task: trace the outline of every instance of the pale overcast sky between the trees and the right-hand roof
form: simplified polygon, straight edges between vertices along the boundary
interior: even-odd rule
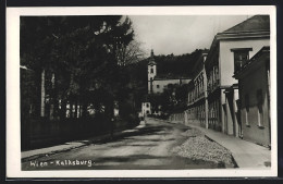
[[[210,48],[217,33],[247,20],[247,15],[131,15],[136,39],[155,54],[190,53]]]

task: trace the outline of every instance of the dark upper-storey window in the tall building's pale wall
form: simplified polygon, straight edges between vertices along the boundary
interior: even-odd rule
[[[237,73],[249,60],[249,51],[253,48],[231,49],[234,52],[234,73]]]

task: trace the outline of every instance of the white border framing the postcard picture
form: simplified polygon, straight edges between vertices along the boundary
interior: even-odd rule
[[[270,14],[271,23],[271,168],[213,170],[21,171],[20,16],[21,15],[246,15]],[[225,177],[276,176],[276,29],[275,7],[87,7],[7,9],[7,176],[8,177]]]

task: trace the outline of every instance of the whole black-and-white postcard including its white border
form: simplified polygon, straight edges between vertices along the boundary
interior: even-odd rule
[[[272,7],[8,9],[8,173],[275,176],[274,27]]]

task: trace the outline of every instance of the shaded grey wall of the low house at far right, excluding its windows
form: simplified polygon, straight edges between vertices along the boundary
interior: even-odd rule
[[[239,83],[241,90],[241,119],[243,123],[243,138],[261,144],[270,144],[270,125],[269,125],[269,110],[268,110],[268,81],[264,65],[257,69],[249,75],[245,76]],[[262,89],[262,112],[263,121],[262,127],[258,126],[258,106],[257,106],[257,90]],[[247,113],[248,125],[246,122],[245,94],[249,95],[249,111]]]

